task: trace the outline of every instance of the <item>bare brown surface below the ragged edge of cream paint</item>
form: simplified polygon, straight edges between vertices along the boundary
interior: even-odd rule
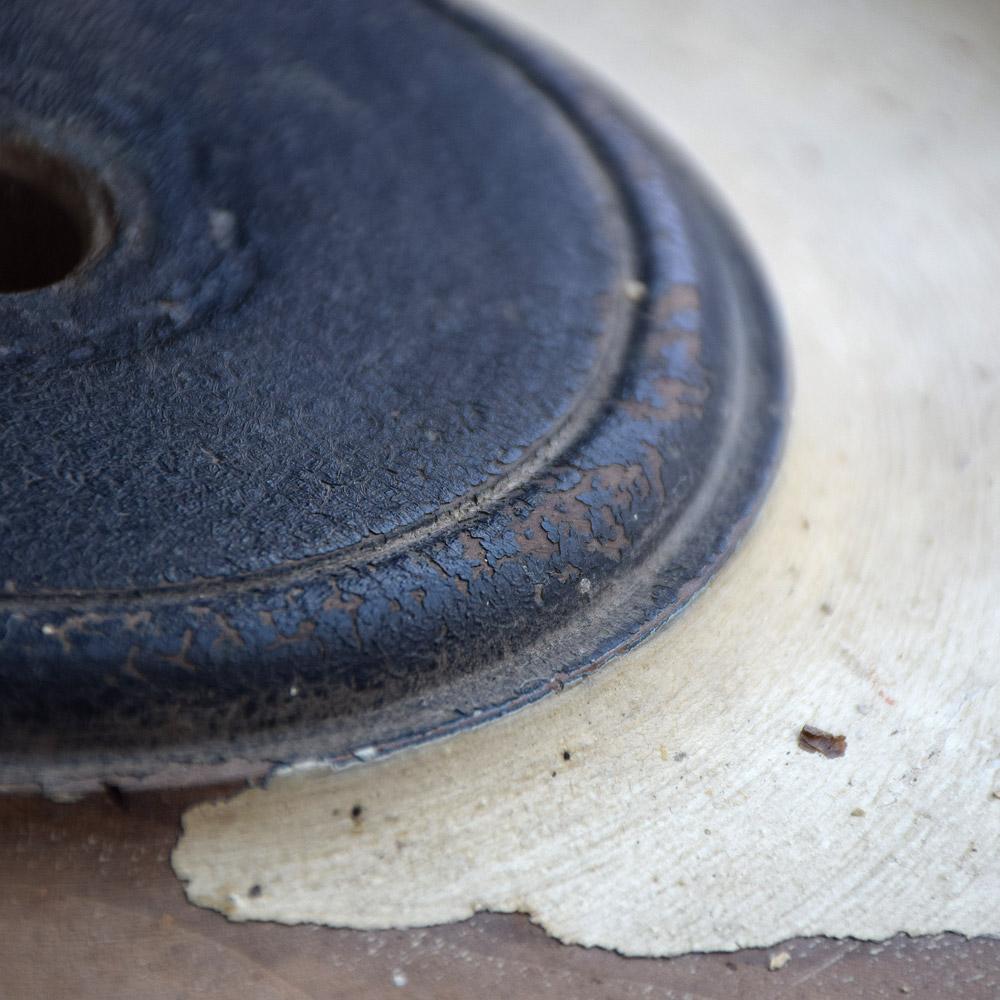
[[[1000,992],[1000,940],[955,935],[627,959],[562,945],[513,915],[378,932],[230,923],[188,904],[170,870],[180,814],[197,797],[0,800],[3,1000],[994,1000]],[[782,951],[788,963],[770,972]]]

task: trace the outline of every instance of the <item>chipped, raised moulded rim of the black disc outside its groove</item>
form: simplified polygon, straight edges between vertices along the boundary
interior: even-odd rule
[[[426,577],[433,564],[454,602],[453,591],[465,598],[480,580],[483,586],[493,581],[500,587],[503,574],[516,564],[531,585],[526,593],[514,593],[503,584],[503,593],[521,601],[525,621],[525,598],[539,612],[572,600],[572,613],[515,644],[518,634],[505,630],[509,619],[487,612],[480,620],[476,669],[471,660],[454,661],[448,635],[440,634],[440,617],[428,610],[423,623],[432,651],[428,671],[405,664],[394,671],[395,664],[386,663],[387,683],[366,675],[360,654],[373,641],[378,647],[388,606],[398,601],[389,597],[385,610],[369,614],[363,593],[367,570],[360,567],[348,567],[346,576],[341,572],[336,578],[324,576],[322,566],[311,567],[301,578],[278,580],[270,590],[266,581],[237,593],[206,587],[186,597],[166,594],[145,603],[138,597],[132,606],[102,608],[82,599],[65,606],[15,606],[7,614],[4,656],[15,648],[11,643],[18,635],[37,640],[56,634],[72,651],[76,638],[67,631],[72,620],[81,634],[110,636],[113,659],[136,641],[128,623],[144,627],[141,616],[153,608],[161,645],[171,645],[164,630],[172,630],[173,645],[182,652],[193,647],[199,629],[234,630],[252,661],[253,644],[263,649],[266,636],[259,626],[245,623],[258,621],[261,608],[280,606],[291,636],[300,634],[303,623],[311,623],[306,629],[311,634],[325,617],[350,637],[359,658],[324,661],[313,654],[310,659],[309,645],[296,650],[294,642],[284,647],[290,652],[282,659],[261,657],[260,674],[271,685],[275,677],[288,683],[283,671],[289,678],[301,676],[310,663],[313,679],[308,692],[296,691],[291,682],[289,695],[297,699],[292,714],[279,713],[257,731],[236,727],[227,733],[216,725],[199,731],[192,724],[185,732],[181,720],[174,741],[147,748],[143,733],[152,727],[133,709],[127,732],[112,730],[98,745],[84,741],[79,748],[50,753],[44,740],[26,750],[5,740],[0,788],[77,794],[102,784],[201,784],[259,776],[306,760],[368,760],[478,725],[561,689],[647,638],[704,586],[756,514],[780,452],[788,380],[775,313],[732,223],[674,152],[578,72],[512,40],[478,15],[428,2],[514,63],[584,134],[628,207],[640,248],[641,286],[635,289],[636,333],[627,371],[600,425],[557,459],[545,482],[500,509],[462,522],[445,537],[431,537],[393,556],[377,570],[390,581],[390,593],[402,594],[412,590],[415,572]],[[685,447],[695,449],[681,477],[686,481],[664,483],[663,454]],[[587,508],[583,520],[576,503]],[[600,517],[597,530],[593,514]],[[631,528],[633,519],[644,532],[641,539],[629,534],[638,530]],[[509,551],[512,535],[521,543],[516,553]],[[422,570],[414,570],[417,563]],[[609,563],[616,572],[604,582]],[[551,595],[546,586],[532,583],[550,578]],[[430,603],[429,596],[424,594],[421,607]],[[478,605],[469,605],[470,613],[490,605],[484,591]],[[17,627],[12,630],[13,616]],[[32,662],[33,648],[30,641],[24,644],[25,663]],[[331,662],[337,677],[324,687],[316,671],[324,664],[332,670]],[[190,683],[187,666],[181,663],[178,680]],[[246,677],[241,680],[247,683]],[[231,683],[220,675],[212,692],[218,706],[227,699],[232,707],[256,697],[252,691],[228,690]],[[350,707],[338,715],[336,707],[346,703],[338,694],[345,693],[350,693]],[[99,698],[99,692],[93,694],[94,704]]]

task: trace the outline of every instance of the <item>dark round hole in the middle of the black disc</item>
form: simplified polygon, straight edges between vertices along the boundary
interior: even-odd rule
[[[0,293],[62,281],[109,235],[107,197],[89,172],[35,146],[0,143]]]

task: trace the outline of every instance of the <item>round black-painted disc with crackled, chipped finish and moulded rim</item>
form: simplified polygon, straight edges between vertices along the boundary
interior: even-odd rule
[[[55,221],[0,248],[8,787],[516,708],[676,612],[772,472],[780,344],[731,227],[450,8],[14,0],[0,211],[28,188]]]

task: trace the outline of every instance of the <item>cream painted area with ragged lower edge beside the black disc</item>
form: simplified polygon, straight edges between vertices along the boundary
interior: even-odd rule
[[[522,910],[649,955],[1000,933],[1000,5],[494,6],[725,191],[792,345],[779,481],[716,582],[587,683],[191,810],[190,899]],[[846,755],[798,750],[806,722]]]

